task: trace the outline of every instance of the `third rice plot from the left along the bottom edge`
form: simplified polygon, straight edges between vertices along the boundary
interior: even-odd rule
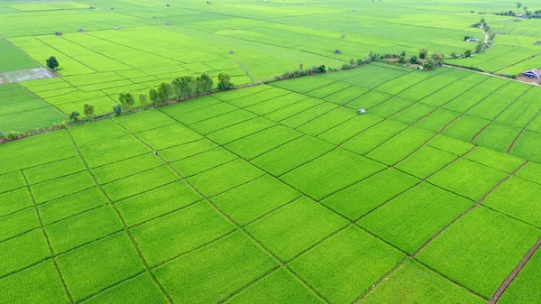
[[[248,236],[237,231],[156,269],[158,280],[179,303],[211,303],[278,267]]]

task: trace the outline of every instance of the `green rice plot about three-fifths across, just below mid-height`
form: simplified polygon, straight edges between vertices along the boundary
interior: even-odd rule
[[[289,171],[280,179],[319,200],[383,169],[380,163],[338,149]]]

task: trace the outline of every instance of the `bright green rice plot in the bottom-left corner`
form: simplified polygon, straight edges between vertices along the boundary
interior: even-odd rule
[[[0,279],[0,286],[2,303],[69,303],[60,276],[50,260]]]

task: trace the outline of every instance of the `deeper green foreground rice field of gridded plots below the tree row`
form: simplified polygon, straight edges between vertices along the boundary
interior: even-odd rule
[[[541,237],[537,90],[373,63],[0,145],[2,302],[487,302]]]

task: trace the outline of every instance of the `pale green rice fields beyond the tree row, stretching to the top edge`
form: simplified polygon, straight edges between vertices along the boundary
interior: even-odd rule
[[[541,9],[531,5],[530,10]],[[541,46],[534,45],[541,21],[517,23],[492,14],[511,9],[517,11],[503,0],[188,0],[170,6],[148,0],[0,0],[0,73],[44,66],[49,56],[60,62],[59,78],[15,83],[15,91],[2,94],[0,130],[59,124],[86,103],[96,114],[108,113],[119,91],[148,94],[161,81],[181,75],[207,72],[215,78],[224,70],[235,85],[243,85],[300,64],[340,68],[371,51],[462,53],[475,47],[464,36],[482,38],[479,28],[470,27],[481,17],[500,32],[495,47],[449,63],[514,75],[541,68]],[[19,91],[32,95],[32,106],[19,104]]]

